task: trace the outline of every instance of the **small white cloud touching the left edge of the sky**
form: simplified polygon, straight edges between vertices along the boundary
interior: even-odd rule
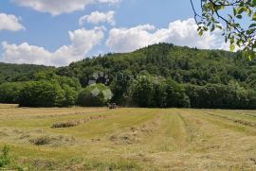
[[[20,24],[21,20],[20,17],[16,17],[15,15],[0,13],[0,31],[18,31],[25,29],[25,27]]]

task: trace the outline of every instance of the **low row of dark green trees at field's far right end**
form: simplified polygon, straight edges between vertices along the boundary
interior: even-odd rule
[[[256,94],[241,87],[236,82],[229,85],[207,84],[187,85],[186,93],[191,99],[192,108],[207,109],[255,109]]]

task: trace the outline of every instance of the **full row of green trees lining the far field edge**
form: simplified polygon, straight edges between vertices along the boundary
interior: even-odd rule
[[[101,107],[118,102],[143,108],[256,109],[256,92],[237,82],[198,86],[145,72],[140,76],[144,77],[126,83],[113,81],[109,87],[97,83],[82,88],[78,78],[40,72],[34,80],[1,84],[0,102],[21,107]],[[114,96],[106,98],[104,90],[111,90]]]

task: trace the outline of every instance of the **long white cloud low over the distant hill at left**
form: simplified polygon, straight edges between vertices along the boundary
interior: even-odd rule
[[[49,52],[44,47],[28,43],[9,44],[2,43],[4,62],[31,63],[63,66],[72,61],[82,60],[95,45],[101,43],[104,37],[103,29],[95,27],[91,30],[84,28],[69,31],[70,45],[64,45],[55,52]]]

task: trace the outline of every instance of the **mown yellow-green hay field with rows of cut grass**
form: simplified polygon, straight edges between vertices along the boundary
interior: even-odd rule
[[[0,105],[4,145],[7,170],[256,170],[256,111]]]

